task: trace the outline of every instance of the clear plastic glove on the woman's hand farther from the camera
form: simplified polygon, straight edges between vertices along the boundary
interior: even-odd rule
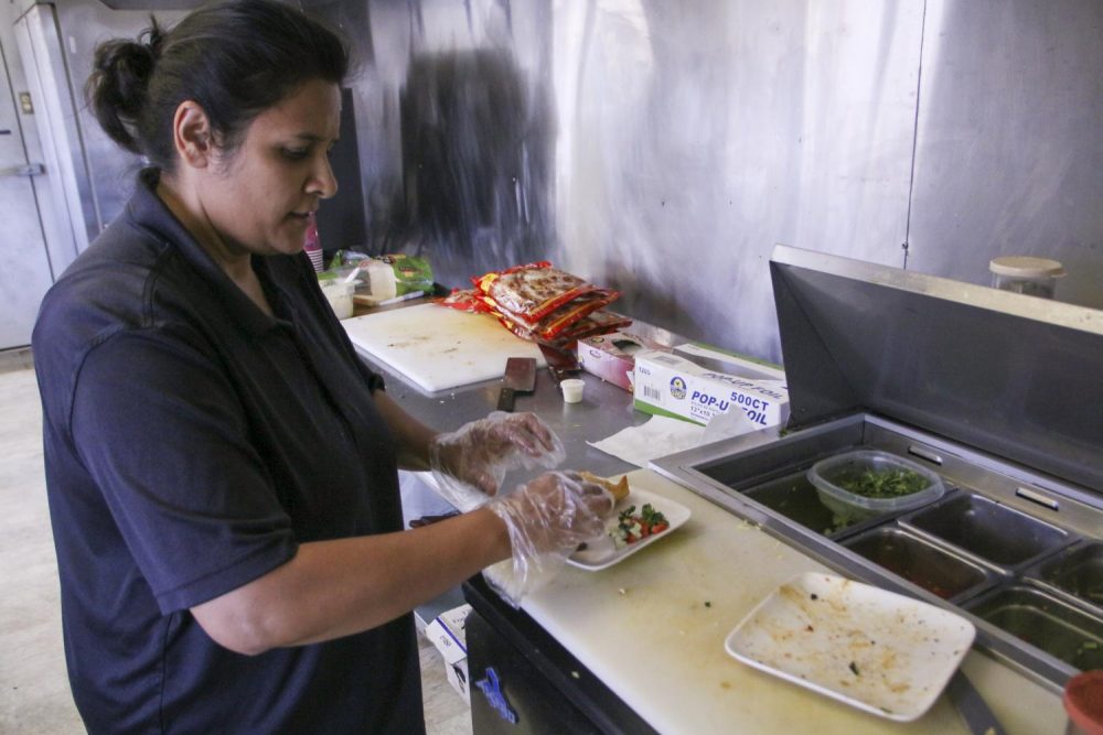
[[[494,411],[437,435],[429,444],[429,466],[438,493],[463,511],[495,495],[507,472],[520,467],[550,469],[566,457],[559,437],[535,413]]]

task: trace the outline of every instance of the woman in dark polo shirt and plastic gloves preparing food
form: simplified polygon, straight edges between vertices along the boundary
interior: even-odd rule
[[[92,732],[420,732],[415,605],[518,586],[611,497],[548,473],[401,531],[397,469],[496,490],[555,439],[450,434],[357,360],[301,252],[336,191],[343,44],[266,0],[100,46],[89,101],[151,167],[43,301],[33,350],[66,658]]]

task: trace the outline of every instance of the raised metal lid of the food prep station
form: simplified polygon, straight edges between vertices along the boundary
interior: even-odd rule
[[[786,246],[790,429],[856,411],[1103,494],[1103,312]]]

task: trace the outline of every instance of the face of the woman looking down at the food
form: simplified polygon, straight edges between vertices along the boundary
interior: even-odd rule
[[[329,152],[341,125],[341,90],[312,80],[258,115],[237,150],[215,162],[200,197],[226,255],[293,255],[309,215],[338,191]]]

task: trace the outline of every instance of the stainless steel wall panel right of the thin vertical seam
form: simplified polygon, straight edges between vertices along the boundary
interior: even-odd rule
[[[1103,307],[1103,2],[930,0],[909,267],[1042,255]]]

